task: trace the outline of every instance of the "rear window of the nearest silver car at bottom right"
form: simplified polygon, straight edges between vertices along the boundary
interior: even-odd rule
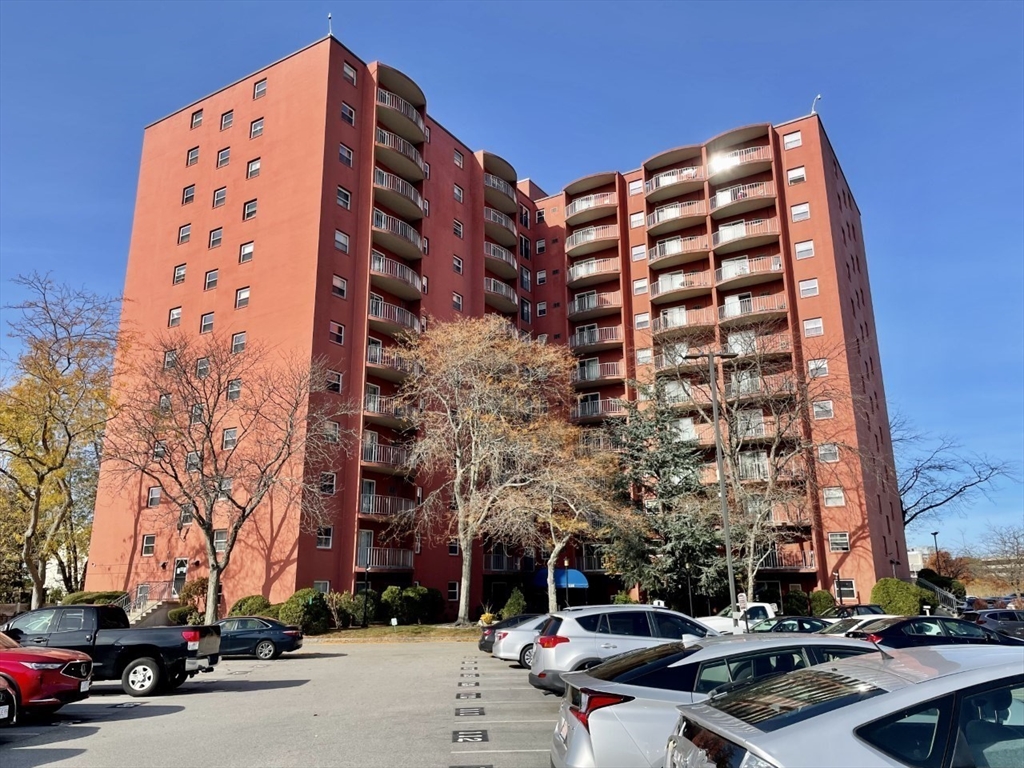
[[[799,676],[782,675],[755,682],[713,698],[708,705],[770,732],[882,693],[882,688],[862,680],[807,670]]]

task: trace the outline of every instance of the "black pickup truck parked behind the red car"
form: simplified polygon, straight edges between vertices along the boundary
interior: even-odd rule
[[[177,688],[220,656],[219,627],[139,627],[117,605],[58,605],[15,616],[3,627],[27,647],[69,648],[92,658],[93,680],[120,680],[125,693]]]

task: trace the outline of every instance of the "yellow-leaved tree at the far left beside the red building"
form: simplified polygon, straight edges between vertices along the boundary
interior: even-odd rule
[[[32,607],[45,599],[46,569],[71,517],[95,494],[92,446],[109,418],[119,301],[37,273],[12,281],[28,296],[8,336],[0,390],[0,494],[15,516]]]

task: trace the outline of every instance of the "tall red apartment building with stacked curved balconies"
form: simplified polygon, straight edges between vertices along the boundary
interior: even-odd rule
[[[335,524],[304,531],[294,509],[261,514],[240,538],[227,603],[419,583],[457,604],[458,547],[389,526],[429,490],[402,470],[393,396],[410,367],[395,338],[486,312],[579,355],[572,418],[586,425],[623,414],[629,380],[677,371],[665,360],[683,342],[771,345],[796,379],[830,377],[850,396],[801,414],[800,429],[814,440],[828,422],[819,458],[836,479],[806,483],[807,519],[761,579],[866,600],[878,578],[906,572],[859,214],[816,116],[550,196],[449,132],[407,75],[329,37],[145,129],[125,296],[136,329],[166,332],[175,309],[175,333],[208,317],[322,356],[339,396],[362,404],[343,425],[361,439],[338,460]],[[812,335],[834,342],[827,360],[805,359]],[[176,590],[203,574],[199,532],[158,525],[145,485],[126,494],[101,471],[88,589]],[[599,558],[570,557],[600,583]],[[480,543],[472,604],[531,583],[534,563]]]

